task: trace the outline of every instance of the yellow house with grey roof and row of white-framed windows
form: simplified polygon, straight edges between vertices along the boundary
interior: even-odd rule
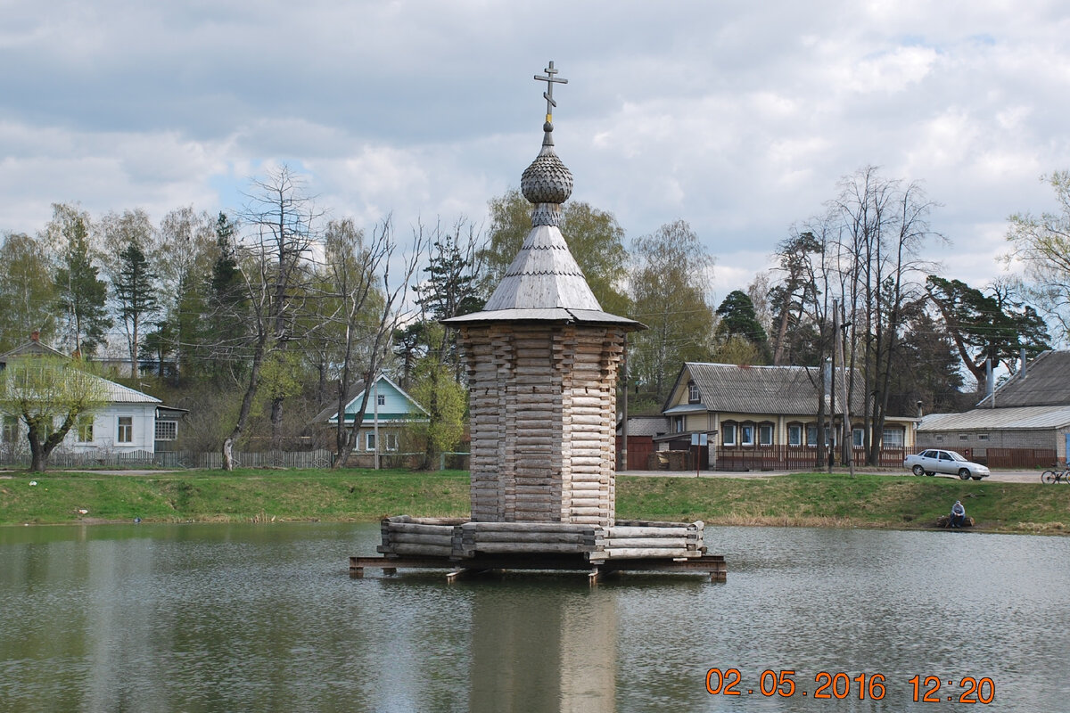
[[[681,369],[661,410],[668,419],[667,432],[654,436],[654,440],[664,450],[687,450],[694,448],[692,441],[698,439],[700,467],[720,470],[814,467],[821,437],[817,413],[824,412],[825,445],[836,446],[846,403],[845,379],[838,375],[836,389],[826,386],[822,394],[821,376],[819,367],[689,361]],[[829,376],[826,371],[825,384],[834,381]],[[855,391],[846,410],[853,458],[860,463],[866,460],[865,431],[859,418],[862,394],[858,389]],[[882,464],[902,464],[905,452],[914,448],[915,421],[908,417],[886,419]],[[701,445],[703,437],[705,447]],[[839,453],[835,455],[838,462]]]

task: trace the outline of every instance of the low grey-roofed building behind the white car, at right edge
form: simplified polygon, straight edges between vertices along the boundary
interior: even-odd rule
[[[1050,467],[1070,450],[1070,351],[1042,352],[977,406],[930,414],[919,448],[959,451],[990,467]]]

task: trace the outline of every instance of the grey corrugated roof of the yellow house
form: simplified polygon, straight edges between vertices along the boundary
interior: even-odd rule
[[[819,367],[751,367],[734,363],[688,361],[686,373],[699,387],[699,400],[706,410],[745,412],[754,414],[817,413]],[[679,378],[685,378],[685,371]],[[677,382],[678,383],[678,382]],[[861,412],[859,381],[852,410]],[[844,392],[837,379],[837,402],[843,403]]]

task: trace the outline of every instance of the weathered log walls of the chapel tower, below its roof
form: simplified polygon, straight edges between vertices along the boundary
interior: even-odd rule
[[[472,520],[612,524],[618,326],[467,325]]]

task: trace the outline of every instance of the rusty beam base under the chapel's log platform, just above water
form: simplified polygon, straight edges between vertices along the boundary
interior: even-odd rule
[[[600,562],[588,561],[581,554],[509,554],[476,555],[463,559],[434,555],[387,555],[384,557],[350,557],[349,576],[358,579],[365,568],[382,570],[384,574],[396,574],[400,569],[449,570],[446,582],[461,577],[505,570],[542,570],[582,572],[592,585],[602,577],[617,572],[672,572],[708,573],[710,582],[725,582],[728,565],[722,555],[703,555],[690,558],[635,558],[609,559]]]

